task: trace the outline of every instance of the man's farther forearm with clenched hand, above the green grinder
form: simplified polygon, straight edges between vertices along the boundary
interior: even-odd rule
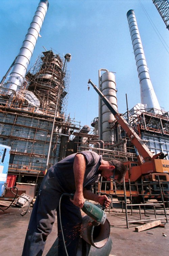
[[[96,201],[102,206],[104,205],[105,208],[108,208],[111,202],[106,195],[99,196],[97,194],[93,194],[91,190],[85,188],[83,189],[83,196],[88,200]]]

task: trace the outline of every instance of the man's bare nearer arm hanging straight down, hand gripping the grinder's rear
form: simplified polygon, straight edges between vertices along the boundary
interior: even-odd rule
[[[73,171],[75,178],[75,186],[76,192],[74,194],[74,199],[71,200],[72,203],[78,207],[83,207],[84,197],[83,197],[83,180],[84,173],[86,170],[86,160],[82,154],[76,154],[74,163],[73,163]]]

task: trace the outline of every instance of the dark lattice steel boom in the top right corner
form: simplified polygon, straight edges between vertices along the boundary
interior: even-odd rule
[[[169,0],[153,0],[152,2],[169,30]]]

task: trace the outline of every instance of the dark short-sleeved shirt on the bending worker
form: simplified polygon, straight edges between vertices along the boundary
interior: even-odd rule
[[[94,185],[100,177],[100,172],[98,169],[101,165],[101,155],[98,155],[93,151],[82,151],[71,154],[70,156],[59,161],[57,164],[53,165],[54,173],[59,184],[65,191],[71,191],[71,193],[76,190],[73,172],[73,163],[76,154],[82,154],[86,159],[86,171],[84,173],[83,188],[91,189],[92,185]]]

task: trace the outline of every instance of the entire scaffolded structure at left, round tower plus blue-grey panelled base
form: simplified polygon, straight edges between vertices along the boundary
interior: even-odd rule
[[[64,112],[70,74],[62,66],[58,54],[46,51],[28,71],[19,90],[7,94],[9,89],[1,86],[0,143],[11,147],[8,173],[44,176],[53,122],[48,167],[66,156],[69,138],[80,123]]]

